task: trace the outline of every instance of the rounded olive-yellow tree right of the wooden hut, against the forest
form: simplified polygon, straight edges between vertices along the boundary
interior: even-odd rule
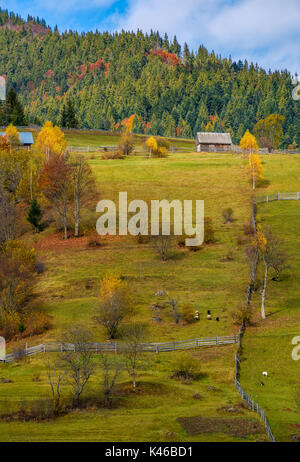
[[[284,116],[271,114],[266,119],[257,122],[253,131],[261,147],[268,148],[269,152],[279,147],[283,137],[284,121]]]

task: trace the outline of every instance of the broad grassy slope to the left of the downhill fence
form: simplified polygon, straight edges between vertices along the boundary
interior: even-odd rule
[[[97,305],[99,279],[108,269],[118,270],[134,287],[136,318],[149,323],[153,341],[236,331],[230,311],[244,301],[248,281],[243,248],[237,244],[242,225],[249,218],[251,192],[244,175],[245,162],[231,155],[176,154],[169,159],[130,158],[105,162],[95,156],[91,165],[97,176],[100,198],[115,199],[118,191],[127,191],[129,200],[204,199],[206,216],[213,219],[218,242],[198,253],[177,251],[176,258],[161,263],[151,247],[137,245],[134,238],[110,239],[99,250],[87,250],[84,240],[76,246],[74,240],[70,240],[66,248],[63,241],[44,233],[37,238],[36,245],[48,270],[40,277],[38,289],[47,310],[53,315],[54,329],[43,338],[31,339],[30,344],[57,339],[70,323],[79,321],[91,326],[95,338],[105,339],[104,331],[93,326],[92,317]],[[235,223],[227,226],[221,219],[221,212],[226,207],[232,207],[236,217]],[[223,262],[229,249],[233,249],[234,261]],[[165,313],[163,323],[154,324],[150,305],[155,302],[154,294],[159,289],[168,290],[171,295],[179,297],[181,303],[193,304],[201,313],[200,323],[191,326],[181,323],[175,327],[170,314]],[[214,316],[220,316],[219,324],[206,321],[207,309],[211,309]],[[151,357],[140,380],[148,384],[144,388],[152,391],[144,392],[136,399],[123,396],[119,407],[109,412],[73,413],[43,424],[0,423],[0,438],[2,441],[237,441],[236,436],[216,434],[213,430],[191,438],[176,423],[178,417],[203,415],[219,418],[223,416],[218,411],[220,407],[240,402],[233,385],[234,351],[235,347],[228,347],[189,352],[199,358],[201,370],[206,374],[192,385],[170,380],[170,363],[176,354]],[[42,364],[43,358],[40,357],[22,366],[1,366],[0,376],[13,380],[11,384],[0,385],[1,400],[43,396],[47,387]],[[33,382],[32,377],[40,370],[43,371],[41,382]],[[99,378],[95,378],[90,386],[91,393],[97,380]],[[121,382],[127,380],[125,375]],[[209,392],[209,385],[216,386],[220,392]],[[203,395],[203,401],[192,399],[195,392]],[[257,419],[249,411],[242,412],[244,417]],[[167,436],[166,432],[174,435]],[[263,437],[255,435],[250,439]]]

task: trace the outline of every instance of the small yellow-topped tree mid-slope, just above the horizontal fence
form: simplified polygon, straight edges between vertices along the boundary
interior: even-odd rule
[[[95,319],[106,328],[109,339],[116,338],[120,323],[132,313],[133,301],[127,284],[117,276],[106,276],[101,282]]]

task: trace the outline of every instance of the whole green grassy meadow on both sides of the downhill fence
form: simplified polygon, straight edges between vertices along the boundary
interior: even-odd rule
[[[78,135],[74,133],[72,136],[74,138],[68,138],[68,143],[74,146]],[[83,138],[86,145],[91,144],[91,139]],[[82,139],[78,138],[77,142],[78,146],[83,145]],[[205,201],[205,216],[213,223],[215,242],[203,246],[198,252],[174,246],[170,258],[162,262],[151,243],[140,244],[131,236],[100,238],[101,245],[92,248],[88,246],[90,231],[67,242],[51,228],[40,235],[27,235],[25,239],[36,248],[47,268],[39,276],[37,293],[52,322],[52,328],[43,336],[27,339],[29,346],[61,339],[64,330],[72,324],[84,324],[90,328],[95,340],[105,341],[106,333],[95,324],[94,315],[101,278],[111,271],[121,275],[133,289],[134,319],[149,326],[148,341],[177,341],[237,333],[239,326],[234,324],[232,312],[245,302],[249,280],[244,258],[247,241],[244,226],[249,223],[253,192],[246,175],[247,161],[231,154],[193,152],[170,154],[166,159],[132,156],[113,161],[103,161],[101,154],[97,153],[84,155],[96,177],[95,207],[100,199],[117,201],[118,193],[123,191],[127,191],[128,201],[202,199]],[[278,188],[281,192],[299,190],[298,161],[295,156],[264,156],[266,181],[256,194],[264,195]],[[270,222],[278,234],[283,232],[282,237],[286,239],[293,258],[282,281],[269,285],[267,312],[270,316],[265,323],[259,320],[259,294],[255,299],[255,325],[245,335],[241,368],[244,389],[265,407],[275,436],[282,440],[289,440],[297,433],[297,412],[299,415],[299,366],[291,361],[291,339],[297,335],[299,325],[297,278],[300,265],[295,252],[300,245],[295,219],[296,216],[299,220],[299,206],[300,203],[291,202],[259,206],[259,220]],[[222,211],[228,207],[234,211],[234,221],[225,225]],[[93,224],[97,214],[92,211],[84,219]],[[155,294],[160,290],[176,298],[180,307],[189,304],[198,310],[200,321],[187,324],[181,320],[176,325],[171,311],[166,308],[161,313],[161,322],[156,322],[151,307],[157,302]],[[207,310],[212,312],[212,321],[206,319]],[[220,322],[215,321],[216,317]],[[19,342],[19,346],[24,342]],[[14,343],[8,345],[9,351],[14,348]],[[138,393],[130,392],[128,375],[122,372],[112,409],[91,407],[43,423],[2,420],[0,439],[266,440],[259,417],[241,406],[234,387],[235,351],[233,345],[186,352],[187,356],[199,361],[201,372],[200,377],[191,383],[171,379],[173,363],[181,353],[149,355],[139,372]],[[45,359],[46,356],[36,356],[0,366],[0,377],[11,380],[11,383],[0,383],[2,408],[4,403],[13,408],[16,402],[49,396]],[[270,373],[270,377],[263,388],[260,381],[264,370]],[[85,391],[87,397],[101,397],[102,379],[98,371]],[[68,391],[67,386],[66,395]],[[189,421],[183,427],[178,422],[180,418],[196,417],[202,424],[198,422],[200,427],[196,434],[192,432],[195,423]]]

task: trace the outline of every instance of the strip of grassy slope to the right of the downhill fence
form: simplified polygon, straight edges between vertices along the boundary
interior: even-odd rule
[[[265,156],[265,178],[270,185],[257,194],[299,192],[299,160],[299,156]],[[292,435],[300,434],[299,363],[291,357],[292,339],[300,335],[300,203],[259,205],[258,218],[285,240],[290,269],[284,272],[281,282],[269,282],[266,322],[258,319],[257,325],[247,330],[241,382],[266,409],[275,437],[290,441]],[[257,296],[257,310],[259,303]],[[265,387],[260,386],[262,371],[270,374],[263,379]]]

